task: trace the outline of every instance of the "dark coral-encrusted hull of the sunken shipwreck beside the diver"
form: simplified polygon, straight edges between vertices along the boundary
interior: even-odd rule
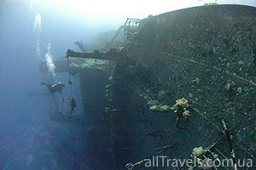
[[[234,164],[215,169],[247,169],[238,160],[250,159],[254,169],[255,16],[242,5],[185,8],[141,20],[119,49],[68,50],[102,59],[77,71],[84,124],[94,126],[90,169],[189,169],[157,166],[156,156]]]

